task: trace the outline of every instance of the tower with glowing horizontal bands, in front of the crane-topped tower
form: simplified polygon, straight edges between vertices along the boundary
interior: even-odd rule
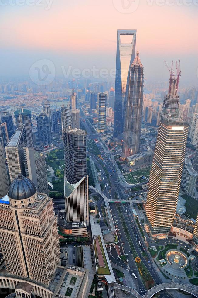
[[[187,136],[187,123],[161,117],[146,202],[146,216],[153,235],[167,234],[172,227]]]

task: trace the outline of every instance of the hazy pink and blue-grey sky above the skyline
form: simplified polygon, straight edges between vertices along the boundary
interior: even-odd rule
[[[117,29],[137,29],[147,79],[166,80],[163,61],[180,59],[181,84],[197,86],[197,14],[198,0],[0,0],[0,76],[28,76],[43,59],[56,75],[69,67],[110,71]]]

